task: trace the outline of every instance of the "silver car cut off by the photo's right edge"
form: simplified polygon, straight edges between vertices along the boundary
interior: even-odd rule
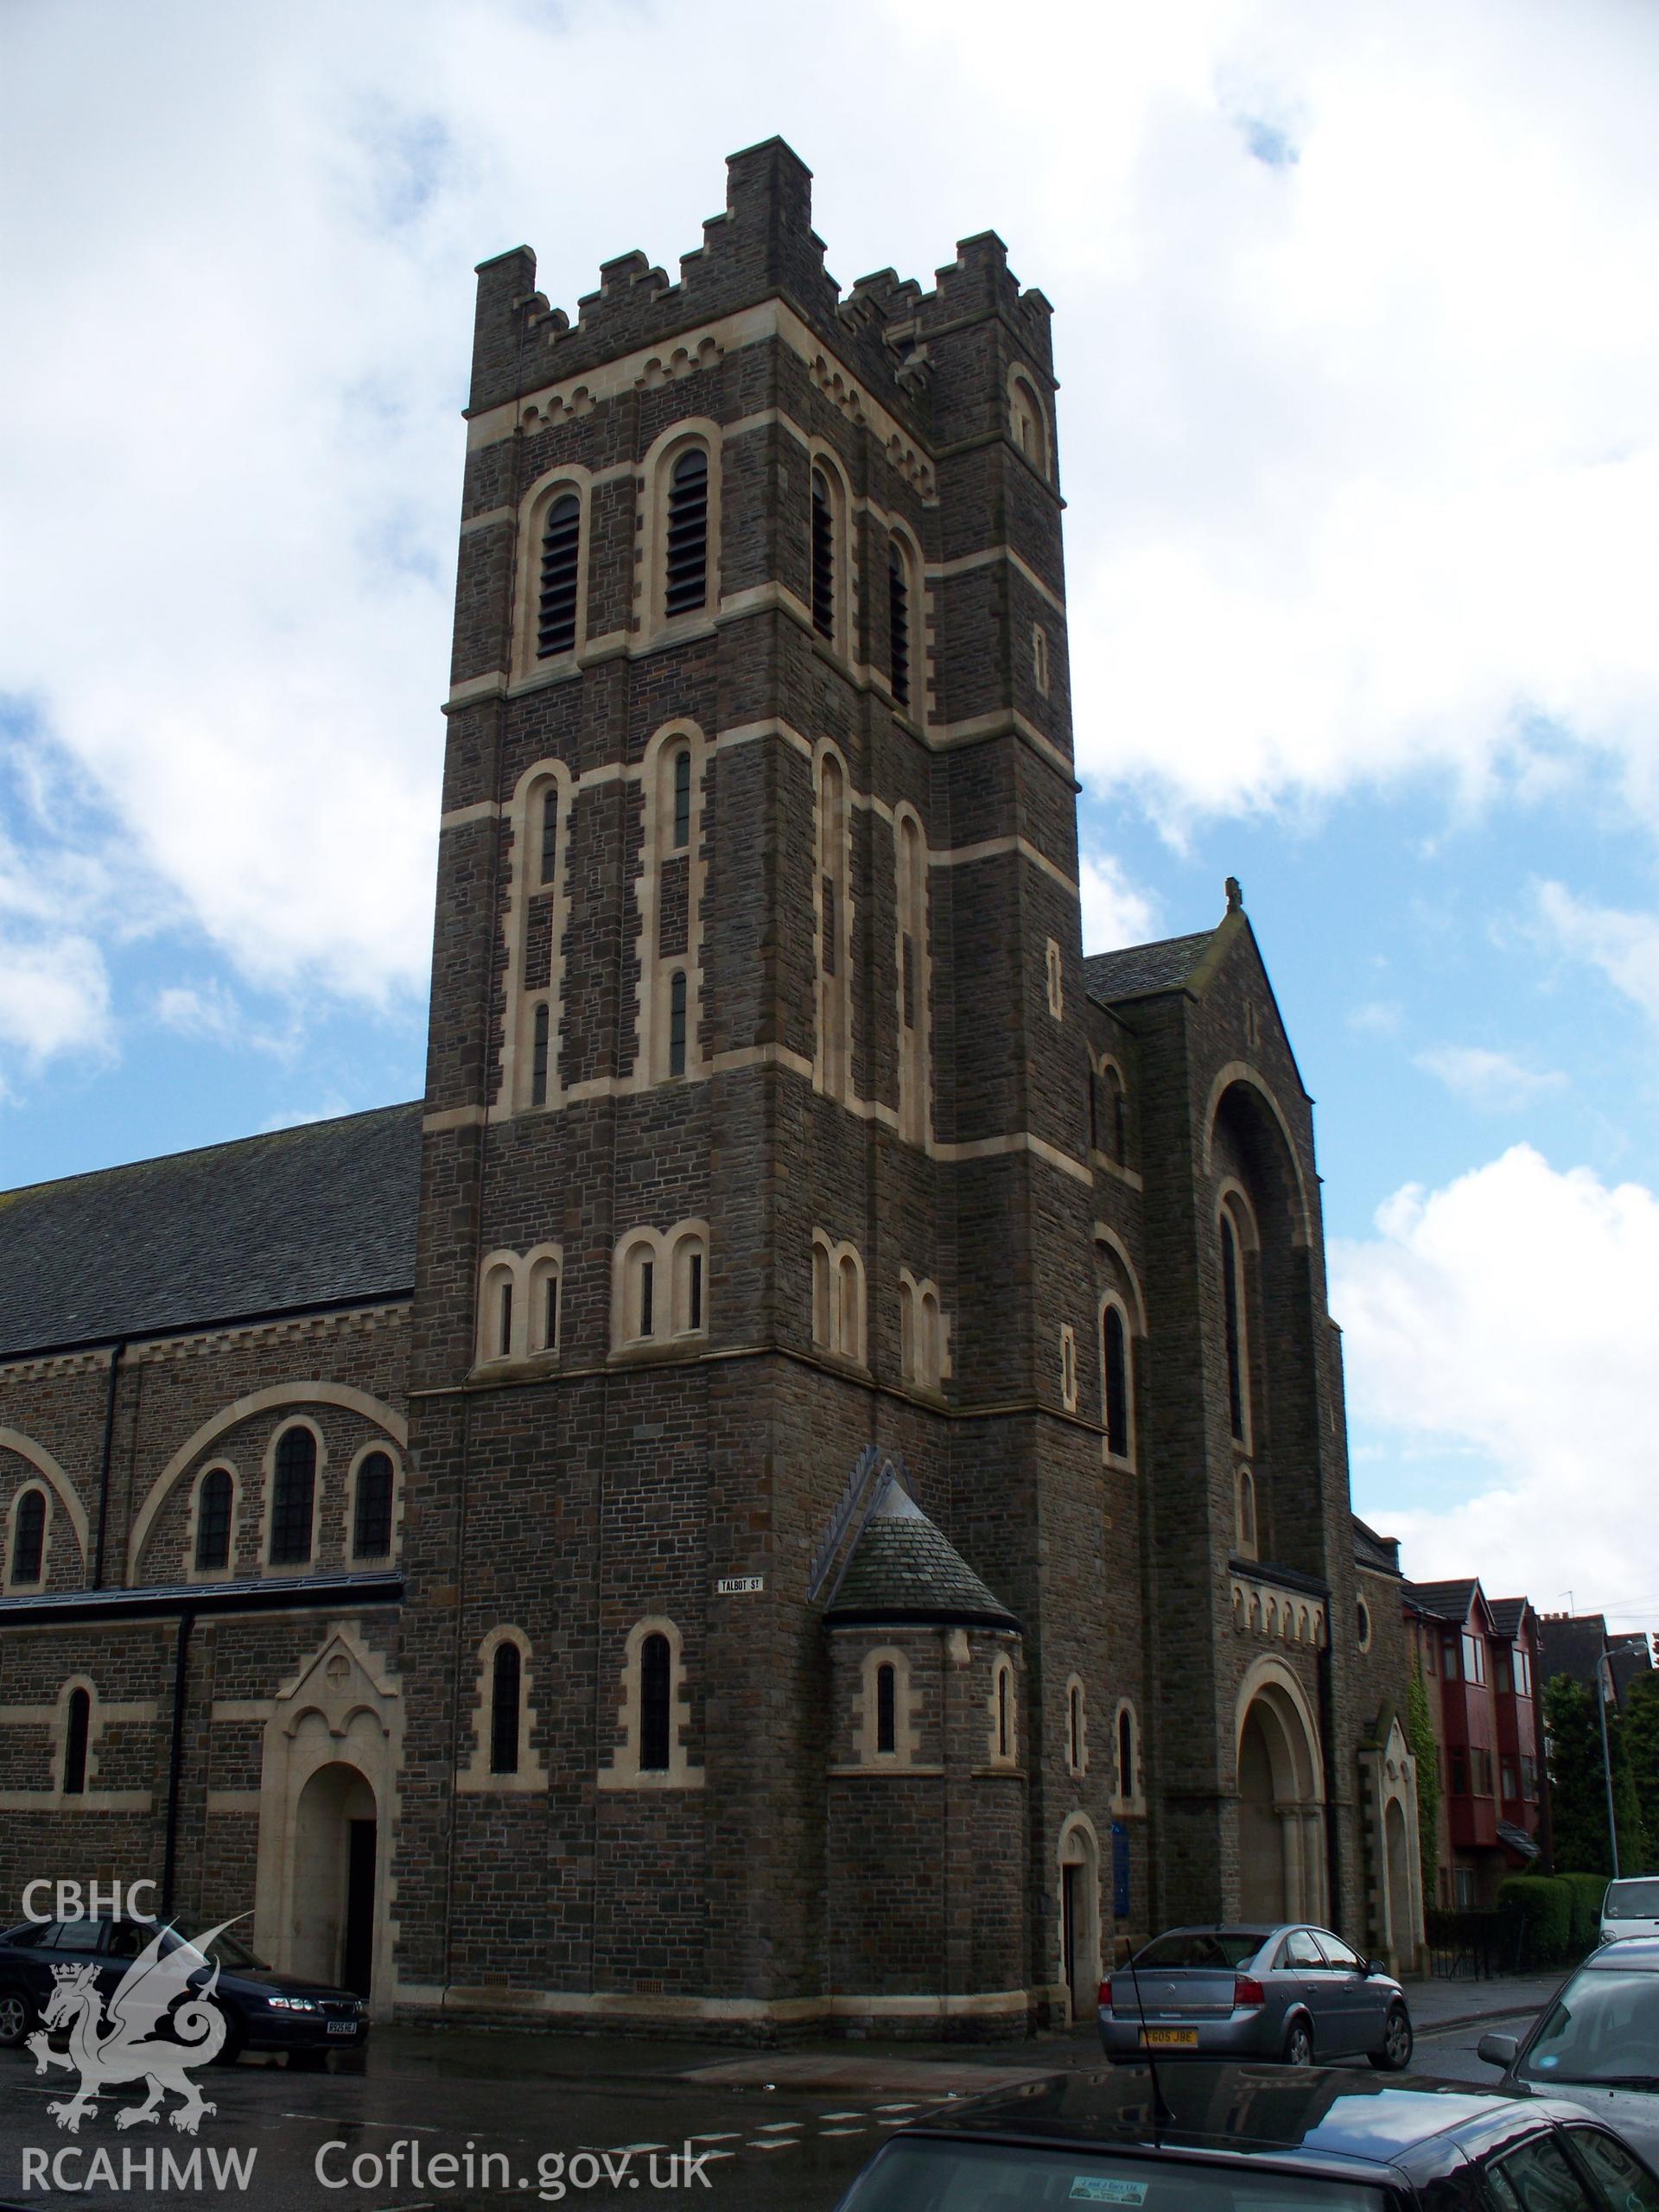
[[[1659,2159],[1659,1938],[1590,1951],[1526,2035],[1482,2035],[1502,2088],[1566,2097]]]

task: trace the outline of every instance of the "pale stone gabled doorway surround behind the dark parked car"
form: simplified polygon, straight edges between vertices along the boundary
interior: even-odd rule
[[[336,1621],[276,1692],[265,1721],[254,1951],[281,1971],[327,1982],[338,1982],[356,1953],[383,2015],[396,1980],[392,1834],[400,1759],[398,1679],[354,1624]]]

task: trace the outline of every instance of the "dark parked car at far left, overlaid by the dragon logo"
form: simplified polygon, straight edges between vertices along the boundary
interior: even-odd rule
[[[27,1920],[0,1936],[0,2046],[15,2046],[40,2026],[51,1997],[53,1966],[93,1964],[104,2002],[119,1986],[133,1960],[153,1942],[146,1920]],[[243,2051],[285,2051],[290,2064],[321,2064],[330,2051],[361,2051],[369,2035],[369,2008],[349,1989],[330,1989],[305,1975],[276,1973],[221,1929],[208,1951],[168,1931],[164,1951],[195,1951],[192,1986],[219,1966],[215,2004],[226,2017],[223,2062]]]

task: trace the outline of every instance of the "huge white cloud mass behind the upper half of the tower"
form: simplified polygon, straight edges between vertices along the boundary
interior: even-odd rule
[[[1093,783],[1175,818],[1595,748],[1659,818],[1659,15],[1037,0],[1009,69],[993,0],[852,0],[836,38],[830,126],[818,18],[759,0],[0,11],[0,692],[157,905],[263,987],[420,991],[471,263],[531,239],[568,310],[635,243],[672,274],[772,131],[843,281],[995,223],[1057,303]],[[584,95],[624,80],[617,131]]]

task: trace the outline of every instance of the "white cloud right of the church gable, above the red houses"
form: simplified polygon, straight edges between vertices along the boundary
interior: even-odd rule
[[[1376,1237],[1332,1245],[1349,1409],[1394,1447],[1473,1453],[1460,1495],[1389,1504],[1356,1458],[1356,1506],[1402,1540],[1413,1579],[1577,1606],[1659,1593],[1652,1347],[1659,1197],[1557,1172],[1531,1146],[1442,1190],[1409,1186]]]

